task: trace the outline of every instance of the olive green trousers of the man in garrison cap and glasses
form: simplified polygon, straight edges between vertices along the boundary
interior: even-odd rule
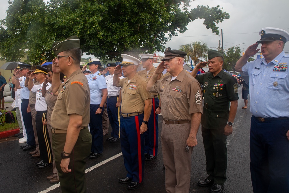
[[[85,158],[90,154],[91,134],[87,127],[80,130],[68,165],[68,169],[72,171],[67,174],[62,172],[60,167],[62,160],[60,153],[64,148],[65,141],[66,133],[52,133],[52,148],[55,155],[54,159],[59,174],[61,190],[63,193],[85,193]]]

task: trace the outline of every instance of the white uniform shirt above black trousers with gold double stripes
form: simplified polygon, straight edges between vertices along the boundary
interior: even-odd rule
[[[45,97],[42,97],[42,84],[34,85],[31,89],[31,92],[36,93],[36,103],[35,110],[36,111],[47,111],[47,104],[45,102]],[[47,83],[46,90],[51,87],[50,83]]]

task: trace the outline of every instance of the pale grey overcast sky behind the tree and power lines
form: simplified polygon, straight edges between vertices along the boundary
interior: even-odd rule
[[[0,3],[0,19],[5,19],[8,2],[0,0]],[[190,5],[191,8],[197,5],[209,5],[209,7],[220,5],[230,14],[230,19],[217,24],[220,34],[223,28],[224,49],[244,43],[238,46],[241,51],[245,51],[249,45],[260,39],[259,31],[264,27],[277,27],[289,32],[288,0],[196,0]],[[198,19],[189,23],[188,30],[179,34],[179,37],[173,37],[166,47],[179,49],[181,44],[192,41],[203,41],[209,47],[218,47],[220,38],[221,36],[214,35],[210,29],[205,28],[203,20]],[[284,51],[289,54],[289,42],[285,44]]]

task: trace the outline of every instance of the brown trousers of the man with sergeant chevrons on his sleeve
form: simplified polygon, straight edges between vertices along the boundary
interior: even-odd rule
[[[188,193],[191,180],[191,155],[193,148],[186,152],[186,140],[190,123],[162,123],[162,154],[166,168],[166,192]]]

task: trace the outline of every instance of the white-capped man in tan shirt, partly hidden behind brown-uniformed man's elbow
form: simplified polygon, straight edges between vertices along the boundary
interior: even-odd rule
[[[153,75],[155,67],[153,66],[153,54],[140,54],[142,56],[142,67],[144,70],[138,71],[138,74],[144,78],[147,82]],[[162,79],[163,77],[161,77]],[[159,124],[156,109],[159,107],[158,93],[151,93],[151,102],[153,104],[151,108],[151,115],[149,117],[149,124],[147,125],[147,132],[144,133],[144,155],[145,160],[152,160],[158,155],[158,140],[159,140]],[[160,107],[161,108],[161,107]]]

